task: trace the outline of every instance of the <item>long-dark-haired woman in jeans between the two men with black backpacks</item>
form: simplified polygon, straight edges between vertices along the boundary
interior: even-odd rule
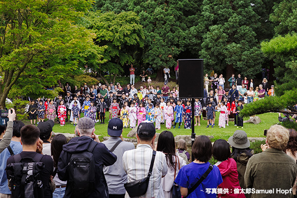
[[[67,139],[63,134],[57,134],[56,136],[54,136],[51,143],[51,152],[54,160],[53,180],[56,183],[56,190],[53,193],[53,198],[63,198],[66,190],[67,181],[59,180],[58,176],[56,175],[58,168],[58,160],[63,150],[64,144],[67,144]]]

